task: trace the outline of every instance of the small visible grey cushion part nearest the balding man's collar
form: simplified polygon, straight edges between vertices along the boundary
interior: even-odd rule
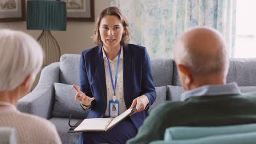
[[[181,101],[181,94],[184,92],[183,87],[167,86],[167,100]]]

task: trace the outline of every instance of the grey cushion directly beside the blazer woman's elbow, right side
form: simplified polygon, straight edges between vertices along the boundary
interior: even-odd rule
[[[164,101],[166,100],[166,90],[166,86],[155,87],[156,99],[154,103],[149,107],[149,112],[152,111],[152,109],[154,109],[159,104],[164,103]]]

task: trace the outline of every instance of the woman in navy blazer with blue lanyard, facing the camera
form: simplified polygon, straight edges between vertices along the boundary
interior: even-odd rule
[[[91,109],[87,118],[114,117],[133,107],[136,110],[108,132],[82,133],[78,143],[125,143],[137,134],[155,101],[147,50],[127,44],[131,37],[128,26],[118,8],[102,11],[94,31],[97,46],[82,52],[80,89],[73,87],[75,100],[84,110]]]

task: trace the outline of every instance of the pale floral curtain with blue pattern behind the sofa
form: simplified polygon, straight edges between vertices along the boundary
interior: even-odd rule
[[[233,56],[236,0],[110,0],[127,16],[131,43],[146,46],[150,57],[171,57],[174,41],[188,29],[220,31]]]

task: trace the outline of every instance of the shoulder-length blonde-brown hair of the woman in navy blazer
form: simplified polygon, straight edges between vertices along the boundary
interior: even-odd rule
[[[97,25],[94,29],[94,36],[92,36],[94,43],[96,45],[102,44],[99,28],[100,28],[102,18],[106,15],[114,15],[119,18],[120,22],[122,23],[122,25],[124,27],[124,31],[125,31],[125,34],[123,34],[123,37],[122,37],[120,43],[121,43],[121,45],[125,45],[125,44],[129,43],[131,36],[132,36],[131,32],[129,30],[129,22],[127,21],[125,15],[117,7],[106,8],[98,16]]]

